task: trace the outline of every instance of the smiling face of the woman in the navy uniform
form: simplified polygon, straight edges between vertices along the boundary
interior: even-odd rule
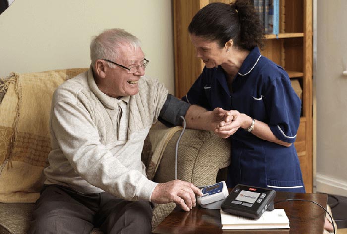
[[[195,47],[196,57],[201,58],[207,68],[217,67],[227,59],[227,49],[221,48],[217,41],[208,41],[194,34],[190,34],[190,40]]]

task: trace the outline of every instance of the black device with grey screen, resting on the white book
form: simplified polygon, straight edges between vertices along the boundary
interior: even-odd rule
[[[224,212],[259,219],[265,210],[273,210],[276,192],[271,189],[236,185],[221,204]]]

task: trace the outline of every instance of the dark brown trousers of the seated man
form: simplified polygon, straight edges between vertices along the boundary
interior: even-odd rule
[[[151,233],[149,202],[126,201],[107,192],[81,194],[69,187],[49,185],[41,192],[29,234]]]

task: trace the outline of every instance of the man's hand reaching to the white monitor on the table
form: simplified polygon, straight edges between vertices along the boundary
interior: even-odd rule
[[[173,180],[159,183],[152,192],[151,201],[157,204],[174,202],[183,210],[190,211],[196,206],[195,195],[202,196],[198,187],[186,181]]]

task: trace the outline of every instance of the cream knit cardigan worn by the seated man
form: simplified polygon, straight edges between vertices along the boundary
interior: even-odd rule
[[[147,179],[141,151],[168,91],[157,80],[146,77],[138,85],[138,94],[112,98],[99,90],[89,69],[58,87],[52,99],[52,151],[45,184],[150,201],[157,183]],[[119,106],[127,108],[128,113],[122,116],[128,120],[125,140],[117,139]]]

